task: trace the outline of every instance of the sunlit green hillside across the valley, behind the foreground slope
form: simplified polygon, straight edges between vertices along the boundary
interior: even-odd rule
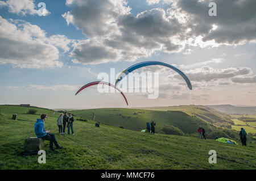
[[[164,125],[174,125],[184,133],[189,134],[196,133],[199,125],[203,126],[207,130],[216,129],[212,124],[208,124],[197,117],[191,117],[181,111],[167,112],[126,108],[106,108],[96,110],[76,110],[72,112],[85,119],[93,119],[93,112],[96,115],[95,121],[134,131],[146,129],[146,123],[151,122],[151,119],[156,121],[155,131],[158,133],[161,133]]]

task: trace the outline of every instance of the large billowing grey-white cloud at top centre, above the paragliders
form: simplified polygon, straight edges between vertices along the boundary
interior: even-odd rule
[[[183,48],[171,40],[183,28],[176,19],[168,18],[162,9],[143,11],[134,16],[126,1],[73,0],[67,1],[67,5],[72,5],[73,9],[65,12],[63,18],[89,38],[74,44],[71,56],[76,63],[135,61],[149,57],[157,50],[172,53]]]

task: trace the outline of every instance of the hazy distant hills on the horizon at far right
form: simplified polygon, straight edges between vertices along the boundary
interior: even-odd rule
[[[209,105],[209,108],[213,108],[214,110],[229,113],[229,114],[249,114],[256,115],[256,106],[232,106],[230,104],[225,105]]]

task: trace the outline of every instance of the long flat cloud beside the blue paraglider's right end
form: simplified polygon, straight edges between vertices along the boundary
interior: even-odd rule
[[[250,68],[226,68],[213,69],[209,66],[186,71],[185,74],[191,81],[216,81],[217,79],[228,79],[237,75],[247,75],[251,73]],[[174,78],[181,79],[179,75],[174,75]]]

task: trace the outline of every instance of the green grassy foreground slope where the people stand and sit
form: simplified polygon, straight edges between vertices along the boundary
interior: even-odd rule
[[[256,169],[254,145],[242,147],[214,140],[166,134],[147,134],[76,121],[75,136],[57,134],[56,117],[50,110],[37,109],[38,115],[26,115],[28,108],[0,106],[0,169]],[[11,115],[18,113],[18,121]],[[20,157],[24,140],[34,137],[35,119],[48,113],[46,129],[56,133],[64,150],[49,151],[46,164],[38,156]],[[217,151],[217,164],[208,163],[208,151]]]

